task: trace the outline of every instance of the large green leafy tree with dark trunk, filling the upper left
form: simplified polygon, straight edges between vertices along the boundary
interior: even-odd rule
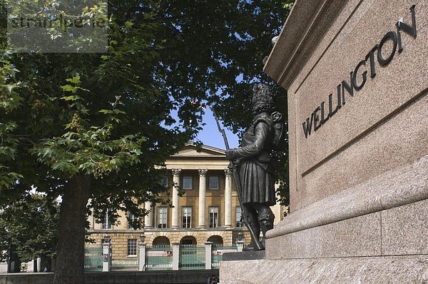
[[[56,11],[66,1],[46,3]],[[270,1],[108,4],[106,54],[11,54],[3,44],[0,106],[13,107],[0,109],[11,126],[1,133],[11,151],[0,153],[0,170],[14,176],[2,179],[0,200],[31,186],[62,196],[55,283],[84,282],[89,199],[98,217],[107,207],[143,215],[141,203],[161,201],[156,166],[200,130],[200,102],[235,131],[248,125],[252,84],[268,81],[262,60],[287,14]],[[104,9],[89,8],[82,13]],[[66,44],[78,49],[84,39]]]

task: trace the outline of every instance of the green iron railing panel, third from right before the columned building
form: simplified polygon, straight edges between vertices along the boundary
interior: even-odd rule
[[[146,270],[172,270],[173,248],[170,245],[148,245],[146,247]]]

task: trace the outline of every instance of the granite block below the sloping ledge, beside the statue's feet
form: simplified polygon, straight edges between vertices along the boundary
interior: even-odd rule
[[[321,225],[266,240],[266,258],[340,258],[382,255],[380,213]]]

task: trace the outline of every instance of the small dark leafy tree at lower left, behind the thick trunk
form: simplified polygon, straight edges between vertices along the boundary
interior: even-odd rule
[[[21,261],[53,257],[58,243],[59,205],[45,196],[31,194],[1,209],[2,259],[13,253]]]

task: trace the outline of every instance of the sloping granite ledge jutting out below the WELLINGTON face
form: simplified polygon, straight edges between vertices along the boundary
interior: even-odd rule
[[[287,215],[266,238],[428,199],[428,155]]]

